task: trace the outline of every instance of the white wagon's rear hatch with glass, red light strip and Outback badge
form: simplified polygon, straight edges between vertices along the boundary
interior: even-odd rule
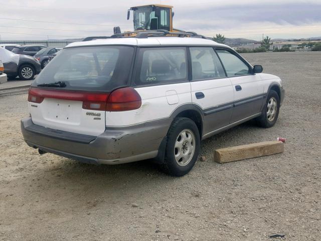
[[[128,86],[134,48],[66,48],[35,79],[29,110],[35,125],[98,136],[110,93]]]

